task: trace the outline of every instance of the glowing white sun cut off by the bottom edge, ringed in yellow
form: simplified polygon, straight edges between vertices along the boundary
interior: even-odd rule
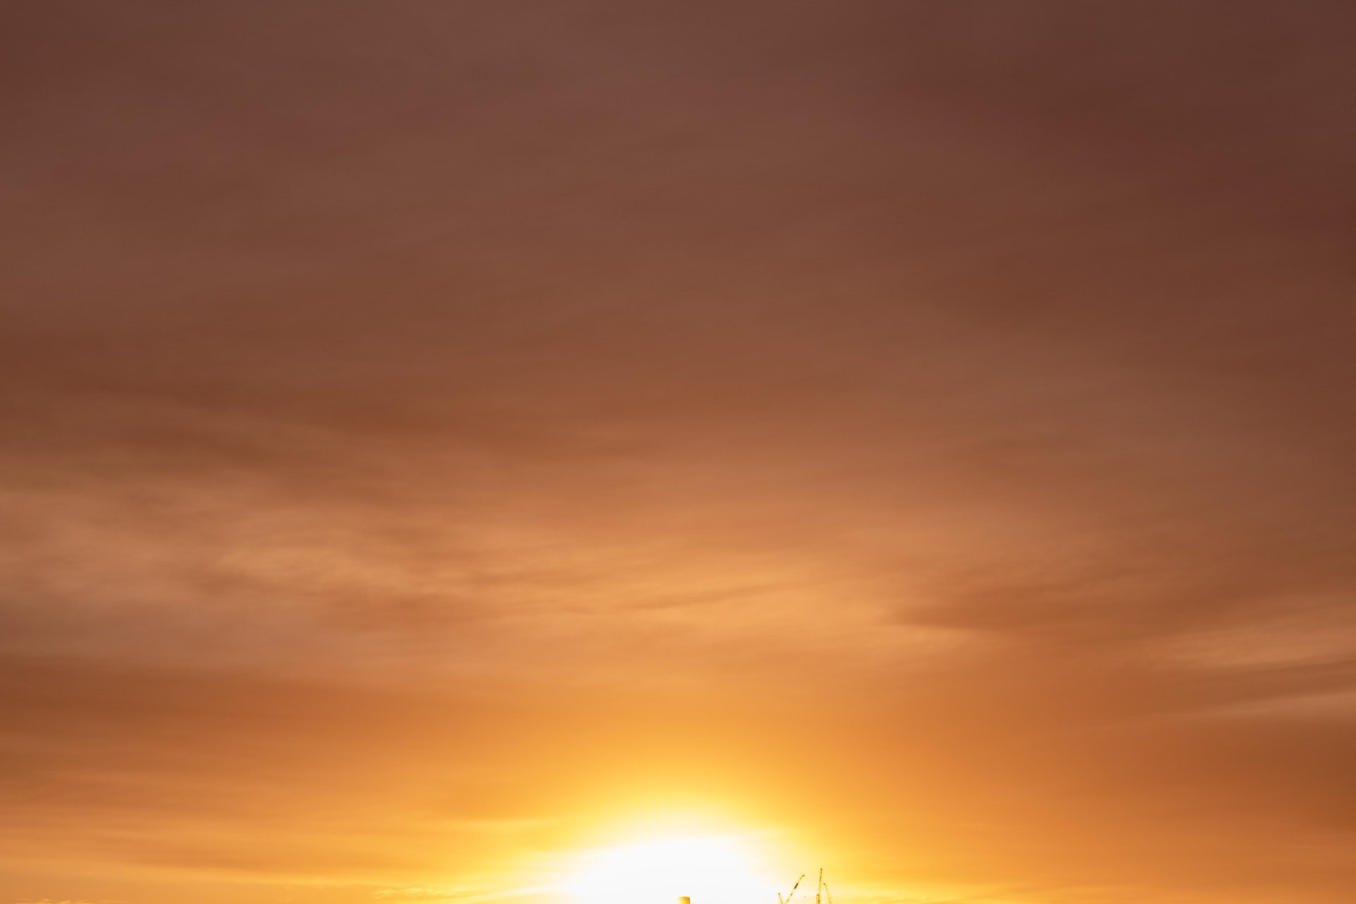
[[[575,904],[767,904],[758,851],[738,836],[651,840],[586,852],[570,882]]]

